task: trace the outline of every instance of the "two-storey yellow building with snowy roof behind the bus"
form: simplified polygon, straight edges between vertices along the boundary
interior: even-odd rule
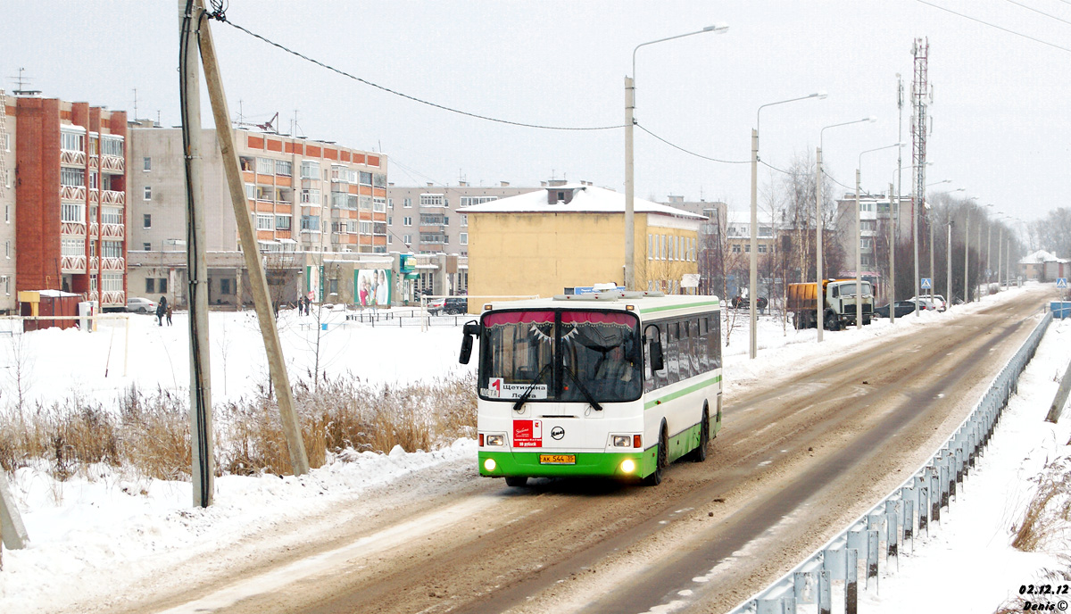
[[[694,293],[705,218],[639,198],[634,209],[635,289]],[[555,185],[457,211],[468,224],[470,296],[552,297],[624,283],[623,194]]]

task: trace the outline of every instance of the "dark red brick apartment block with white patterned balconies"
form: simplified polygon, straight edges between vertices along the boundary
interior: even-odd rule
[[[124,306],[126,113],[32,93],[14,102],[15,288],[64,290],[102,309]],[[11,134],[12,106],[5,104]],[[9,153],[5,146],[5,159]]]

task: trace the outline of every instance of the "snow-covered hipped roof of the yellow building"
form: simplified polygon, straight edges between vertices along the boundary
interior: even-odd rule
[[[572,195],[568,201],[559,200],[552,205],[548,203],[548,195],[554,192],[572,192]],[[643,198],[634,198],[633,208],[636,213],[657,213],[696,221],[706,220],[703,215]],[[457,211],[461,213],[622,213],[624,212],[624,194],[594,185],[569,183],[462,207]]]

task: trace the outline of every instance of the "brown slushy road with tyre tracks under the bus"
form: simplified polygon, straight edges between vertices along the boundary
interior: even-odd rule
[[[418,482],[424,498],[328,510],[330,533],[231,557],[211,582],[122,611],[728,610],[932,453],[1032,329],[1041,300],[1023,293],[756,383],[727,400],[707,462],[674,465],[658,488],[510,489],[446,467]],[[285,542],[292,529],[271,533]]]

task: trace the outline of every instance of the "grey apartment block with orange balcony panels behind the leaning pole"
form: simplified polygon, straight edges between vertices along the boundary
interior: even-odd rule
[[[326,259],[371,257],[382,269],[388,251],[387,156],[334,143],[232,129],[246,205],[265,254],[268,283],[283,301],[325,290]],[[185,170],[182,131],[137,122],[131,156],[132,279],[138,293],[184,302]],[[215,130],[201,136],[207,206],[209,301],[247,303],[238,226]],[[381,256],[373,256],[379,254]],[[373,264],[372,260],[375,260]],[[389,268],[389,267],[388,267]]]

